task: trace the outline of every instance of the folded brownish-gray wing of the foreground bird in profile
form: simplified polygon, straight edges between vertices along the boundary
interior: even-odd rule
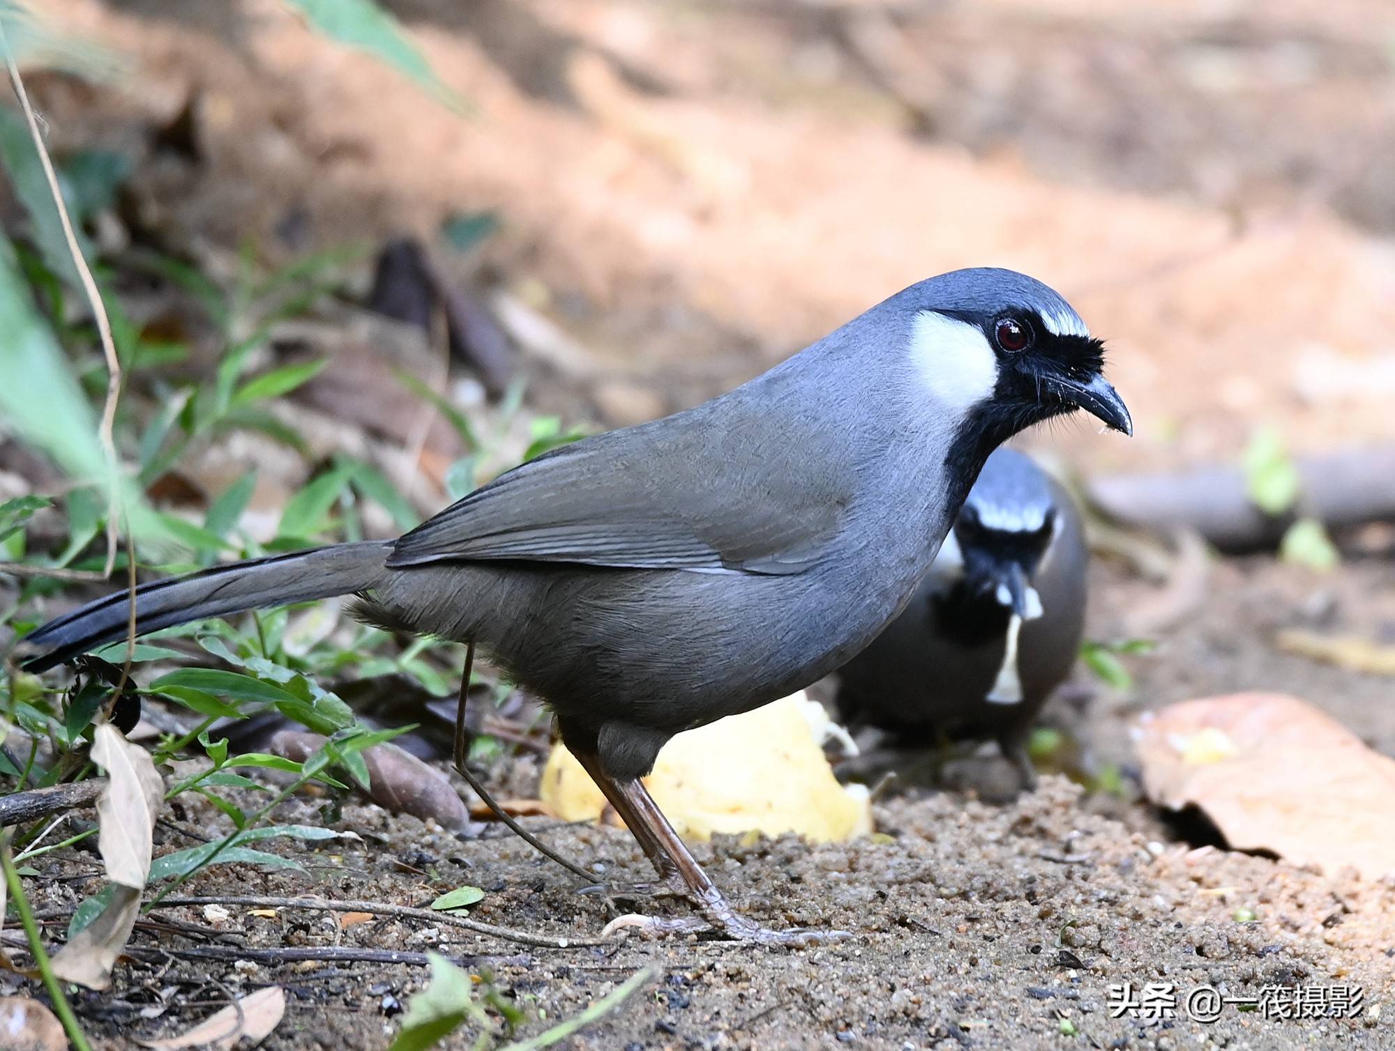
[[[841,528],[854,473],[827,425],[757,410],[704,406],[557,449],[403,535],[388,566],[799,573]]]

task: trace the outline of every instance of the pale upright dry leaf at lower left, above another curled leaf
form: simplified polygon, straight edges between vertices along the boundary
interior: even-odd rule
[[[112,723],[96,728],[92,760],[110,778],[96,801],[100,834],[98,849],[113,884],[141,889],[151,871],[155,815],[165,799],[165,782],[151,754],[131,744]]]

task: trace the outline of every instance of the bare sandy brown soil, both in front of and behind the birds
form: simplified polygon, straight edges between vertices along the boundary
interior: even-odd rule
[[[349,238],[431,236],[451,210],[497,209],[504,230],[483,273],[575,340],[571,355],[525,348],[531,397],[572,418],[626,424],[692,404],[912,280],[1002,263],[1062,289],[1110,337],[1138,436],[1067,427],[1031,440],[1077,470],[1235,460],[1261,421],[1304,452],[1392,436],[1388,4],[391,6],[480,116],[438,110],[272,0],[70,0],[56,15],[130,56],[135,72],[116,86],[46,77],[35,89],[59,148],[138,159],[130,208],[208,266],[244,243],[276,262]],[[151,145],[191,99],[197,163]],[[1391,679],[1272,641],[1290,626],[1395,637],[1389,534],[1343,539],[1348,558],[1327,576],[1268,556],[1216,560],[1204,598],[1156,633],[1158,648],[1126,658],[1133,689],[1081,676],[1048,722],[1087,769],[1116,764],[1126,789],[1131,718],[1240,689],[1299,694],[1395,754]],[[1129,634],[1158,597],[1117,558],[1099,560],[1092,584],[1096,638]],[[529,795],[531,778],[519,761],[508,786]],[[218,820],[194,803],[177,817],[181,828]],[[318,801],[279,818],[317,822]],[[1057,776],[1006,806],[915,792],[877,803],[876,824],[890,839],[698,846],[748,914],[852,934],[819,949],[543,949],[392,919],[342,928],[294,909],[233,907],[218,924],[198,907],[159,917],[206,928],[213,945],[473,958],[523,1009],[526,1033],[657,969],[576,1047],[1395,1047],[1395,1012],[1377,1011],[1395,997],[1389,881],[1198,846],[1196,824],[1131,797],[1083,796]],[[307,873],[227,866],[188,891],[425,905],[469,882],[487,892],[472,914],[490,923],[587,938],[607,920],[600,898],[501,829],[460,839],[370,806],[346,806],[335,827],[365,842],[272,847],[296,852]],[[166,849],[190,845],[166,832]],[[649,875],[621,831],[551,827],[548,841],[618,881]],[[71,909],[98,861],[49,857],[35,905]],[[134,944],[176,938],[142,928]],[[279,983],[287,1019],[264,1047],[371,1048],[389,1043],[424,977],[146,953],[81,1009],[116,1048]],[[1116,1019],[1108,988],[1122,981],[1240,997],[1353,983],[1366,1011]],[[167,1009],[142,1016],[170,987]]]

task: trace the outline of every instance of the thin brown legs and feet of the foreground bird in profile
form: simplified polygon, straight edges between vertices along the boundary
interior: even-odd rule
[[[640,927],[650,934],[692,933],[711,928],[734,941],[753,941],[764,945],[817,945],[847,938],[844,931],[791,930],[773,931],[748,920],[732,907],[727,896],[717,889],[707,873],[698,864],[668,818],[654,803],[639,778],[617,781],[600,765],[598,757],[582,760],[586,772],[605,793],[605,799],[624,818],[625,825],[639,842],[644,854],[653,861],[660,877],[678,881],[685,896],[698,909],[699,916],[681,919],[656,919],[649,916],[621,916],[607,924],[607,931],[625,927]]]

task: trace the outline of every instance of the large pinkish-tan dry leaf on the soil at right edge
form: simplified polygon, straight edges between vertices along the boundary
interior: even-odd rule
[[[1306,701],[1242,693],[1144,715],[1144,790],[1201,807],[1242,850],[1272,850],[1327,873],[1395,873],[1395,760]]]

